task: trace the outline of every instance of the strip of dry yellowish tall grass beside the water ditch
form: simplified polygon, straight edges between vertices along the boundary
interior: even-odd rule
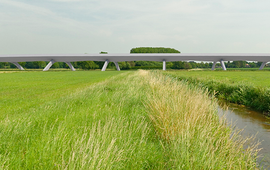
[[[142,71],[141,71],[142,72]],[[224,120],[216,102],[195,86],[144,72],[149,81],[150,118],[161,137],[169,167],[176,169],[254,169],[256,144],[242,139]]]

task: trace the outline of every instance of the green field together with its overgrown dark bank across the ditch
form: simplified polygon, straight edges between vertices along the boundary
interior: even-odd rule
[[[220,99],[249,106],[269,115],[268,71],[169,71],[164,74],[207,88]]]

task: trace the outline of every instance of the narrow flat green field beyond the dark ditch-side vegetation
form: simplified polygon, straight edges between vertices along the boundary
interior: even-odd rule
[[[168,71],[167,73],[181,77],[197,77],[203,79],[222,80],[228,83],[244,82],[255,86],[270,87],[269,71]]]

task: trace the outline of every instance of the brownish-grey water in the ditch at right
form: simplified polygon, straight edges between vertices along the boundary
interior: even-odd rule
[[[257,162],[263,169],[270,170],[270,118],[237,104],[220,102],[219,105],[219,116],[224,115],[231,126],[244,129],[243,136],[255,135],[256,140],[260,141],[262,150]]]

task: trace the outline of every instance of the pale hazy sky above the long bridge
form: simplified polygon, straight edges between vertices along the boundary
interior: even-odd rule
[[[269,0],[0,0],[0,54],[270,53]]]

